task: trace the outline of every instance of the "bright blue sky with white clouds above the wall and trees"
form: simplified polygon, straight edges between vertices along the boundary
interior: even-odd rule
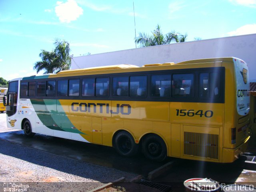
[[[158,24],[187,41],[256,33],[256,0],[0,0],[0,77],[35,75],[56,38],[74,57],[135,48],[134,15],[137,36]]]

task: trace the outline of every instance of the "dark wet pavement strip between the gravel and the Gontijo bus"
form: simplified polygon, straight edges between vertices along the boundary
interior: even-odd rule
[[[23,130],[1,132],[0,139],[100,166],[141,174],[145,177],[148,172],[170,161],[170,158],[167,158],[161,163],[150,162],[142,155],[133,158],[122,157],[112,147],[42,134],[35,134],[34,137],[29,138],[24,135]]]

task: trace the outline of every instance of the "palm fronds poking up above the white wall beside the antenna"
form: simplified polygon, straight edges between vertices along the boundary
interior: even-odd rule
[[[157,25],[156,29],[151,32],[152,35],[146,33],[139,33],[139,36],[135,38],[135,43],[140,44],[140,47],[148,47],[154,45],[170,44],[171,42],[185,42],[188,34],[180,34],[175,31],[163,34],[160,30],[160,26]]]

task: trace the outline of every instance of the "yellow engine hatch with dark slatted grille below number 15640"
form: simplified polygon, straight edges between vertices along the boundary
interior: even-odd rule
[[[219,136],[216,134],[184,132],[184,155],[218,160]]]

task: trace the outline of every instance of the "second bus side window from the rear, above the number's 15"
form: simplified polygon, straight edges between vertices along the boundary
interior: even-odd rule
[[[172,75],[172,96],[192,97],[194,94],[194,74]]]

